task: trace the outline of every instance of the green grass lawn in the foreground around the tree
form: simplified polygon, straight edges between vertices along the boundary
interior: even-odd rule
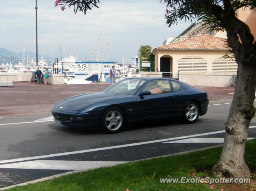
[[[256,169],[256,140],[246,146],[246,163],[251,171]],[[218,162],[222,147],[193,152],[180,156],[137,161],[115,167],[94,169],[83,173],[14,187],[11,191],[207,191],[208,184],[160,183],[160,178],[205,177],[211,175],[212,166]]]

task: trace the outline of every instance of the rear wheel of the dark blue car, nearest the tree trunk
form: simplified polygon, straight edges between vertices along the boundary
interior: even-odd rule
[[[199,107],[198,104],[194,101],[190,101],[186,104],[183,114],[182,114],[182,121],[184,123],[194,123],[198,119],[199,116]]]

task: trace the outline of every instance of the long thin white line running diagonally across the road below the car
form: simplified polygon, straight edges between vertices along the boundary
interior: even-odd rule
[[[249,128],[256,128],[256,126],[251,126]],[[81,153],[87,153],[87,152],[102,151],[102,150],[109,150],[109,149],[116,149],[116,148],[130,147],[130,146],[138,146],[138,145],[166,142],[166,141],[172,141],[172,140],[178,140],[178,139],[186,139],[186,138],[192,138],[192,137],[198,137],[198,136],[204,136],[204,135],[212,135],[212,134],[218,134],[218,133],[224,133],[224,132],[225,132],[225,130],[202,133],[202,134],[195,134],[195,135],[180,136],[180,137],[174,137],[174,138],[167,138],[167,139],[160,139],[160,140],[153,140],[153,141],[146,141],[146,142],[131,143],[131,144],[125,144],[125,145],[117,145],[117,146],[109,146],[109,147],[103,147],[103,148],[80,150],[80,151],[74,151],[74,152],[64,152],[64,153],[49,154],[49,155],[42,155],[42,156],[9,159],[9,160],[0,161],[0,164],[26,161],[26,160],[35,160],[35,159],[42,159],[42,158],[50,158],[50,157],[57,157],[57,156],[65,156],[65,155],[72,155],[72,154],[81,154]]]

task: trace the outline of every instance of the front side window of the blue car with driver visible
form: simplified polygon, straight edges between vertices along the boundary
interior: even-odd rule
[[[153,80],[144,87],[143,91],[150,91],[154,95],[170,93],[172,89],[168,80]]]

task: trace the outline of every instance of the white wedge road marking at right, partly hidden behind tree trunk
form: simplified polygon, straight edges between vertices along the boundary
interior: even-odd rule
[[[254,138],[247,138],[247,140],[251,140]],[[224,138],[190,138],[190,139],[182,139],[176,141],[169,141],[164,143],[224,143]]]

